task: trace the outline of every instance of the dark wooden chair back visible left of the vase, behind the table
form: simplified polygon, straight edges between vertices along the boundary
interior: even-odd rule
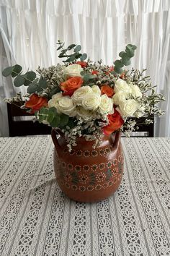
[[[9,137],[27,136],[27,135],[50,135],[51,127],[40,124],[38,121],[33,122],[28,118],[32,117],[19,106],[7,103]],[[19,119],[23,117],[22,119]]]

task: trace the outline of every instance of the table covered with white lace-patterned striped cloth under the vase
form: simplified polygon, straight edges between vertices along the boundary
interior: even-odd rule
[[[0,138],[0,255],[170,255],[170,138],[122,138],[120,188],[97,203],[55,182],[50,137]]]

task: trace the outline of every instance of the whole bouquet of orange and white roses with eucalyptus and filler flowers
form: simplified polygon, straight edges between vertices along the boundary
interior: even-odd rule
[[[76,145],[76,137],[99,140],[105,134],[120,130],[133,132],[141,124],[150,124],[154,115],[164,114],[157,103],[164,101],[151,85],[151,78],[124,66],[130,64],[136,46],[128,44],[112,67],[102,61],[92,62],[81,54],[81,46],[64,48],[58,40],[59,58],[63,64],[28,71],[22,74],[18,64],[7,67],[2,74],[14,77],[14,85],[27,86],[27,94],[5,99],[21,103],[35,119],[59,128],[66,136],[68,148]],[[70,53],[72,51],[72,53]],[[87,59],[87,61],[85,61]],[[37,76],[39,75],[39,77]]]

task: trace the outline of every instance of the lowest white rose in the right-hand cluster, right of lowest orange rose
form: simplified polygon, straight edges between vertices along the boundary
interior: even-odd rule
[[[133,116],[138,109],[138,102],[135,100],[127,100],[120,103],[120,113],[122,116]]]

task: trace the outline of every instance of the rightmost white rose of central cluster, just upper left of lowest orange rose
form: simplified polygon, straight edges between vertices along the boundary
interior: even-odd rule
[[[99,105],[99,111],[101,114],[113,114],[113,101],[112,98],[109,98],[106,94],[101,96],[101,102]]]

